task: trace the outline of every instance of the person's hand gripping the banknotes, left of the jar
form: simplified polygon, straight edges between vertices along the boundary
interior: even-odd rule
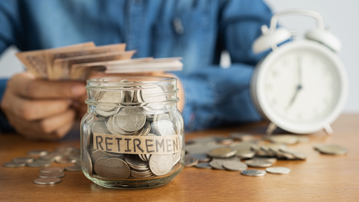
[[[15,130],[29,139],[56,140],[72,128],[73,100],[86,95],[77,81],[44,81],[28,72],[13,76],[6,86],[1,109]]]

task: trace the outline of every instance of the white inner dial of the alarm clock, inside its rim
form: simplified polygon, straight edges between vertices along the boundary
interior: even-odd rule
[[[325,55],[291,50],[273,62],[264,82],[266,99],[278,116],[296,123],[320,121],[339,97],[339,76]]]

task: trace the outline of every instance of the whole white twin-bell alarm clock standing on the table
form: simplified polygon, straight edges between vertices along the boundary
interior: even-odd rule
[[[293,40],[292,32],[277,28],[278,18],[306,15],[316,19],[316,29],[305,39]],[[283,43],[278,46],[278,44]],[[262,116],[271,122],[266,134],[279,127],[291,133],[313,133],[332,123],[348,96],[348,79],[337,52],[341,42],[324,28],[315,11],[291,10],[276,13],[270,27],[262,26],[262,36],[252,44],[254,53],[272,49],[255,67],[250,91]]]

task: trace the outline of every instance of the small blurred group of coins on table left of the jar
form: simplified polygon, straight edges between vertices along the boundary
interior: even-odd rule
[[[36,149],[27,152],[29,156],[20,156],[12,161],[4,163],[4,167],[20,168],[34,167],[41,168],[39,178],[34,180],[35,184],[50,185],[61,182],[60,177],[64,177],[64,170],[81,171],[80,149],[76,147],[57,147],[54,152],[48,152],[44,149]],[[50,167],[51,163],[68,164],[75,163],[72,166]]]

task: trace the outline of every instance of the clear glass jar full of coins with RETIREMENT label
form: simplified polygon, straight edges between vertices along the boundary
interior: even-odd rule
[[[158,187],[184,166],[184,124],[176,79],[89,79],[88,112],[81,121],[81,166],[109,188]]]

